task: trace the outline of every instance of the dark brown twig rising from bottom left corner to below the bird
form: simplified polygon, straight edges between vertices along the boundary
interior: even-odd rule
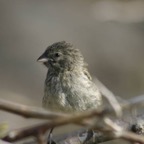
[[[105,114],[104,111],[98,112],[98,111],[93,110],[91,112],[70,115],[70,116],[63,117],[63,118],[61,117],[59,119],[53,119],[50,122],[47,122],[38,126],[33,126],[33,127],[25,128],[22,130],[20,129],[20,130],[12,131],[4,138],[4,140],[11,142],[11,141],[19,140],[21,138],[35,136],[39,133],[39,131],[45,133],[48,129],[52,127],[58,127],[58,126],[62,126],[62,125],[70,124],[70,123],[75,123],[75,124],[79,124],[82,126],[88,126],[90,125],[90,122],[84,119],[92,118],[95,115],[102,116],[104,114]]]

